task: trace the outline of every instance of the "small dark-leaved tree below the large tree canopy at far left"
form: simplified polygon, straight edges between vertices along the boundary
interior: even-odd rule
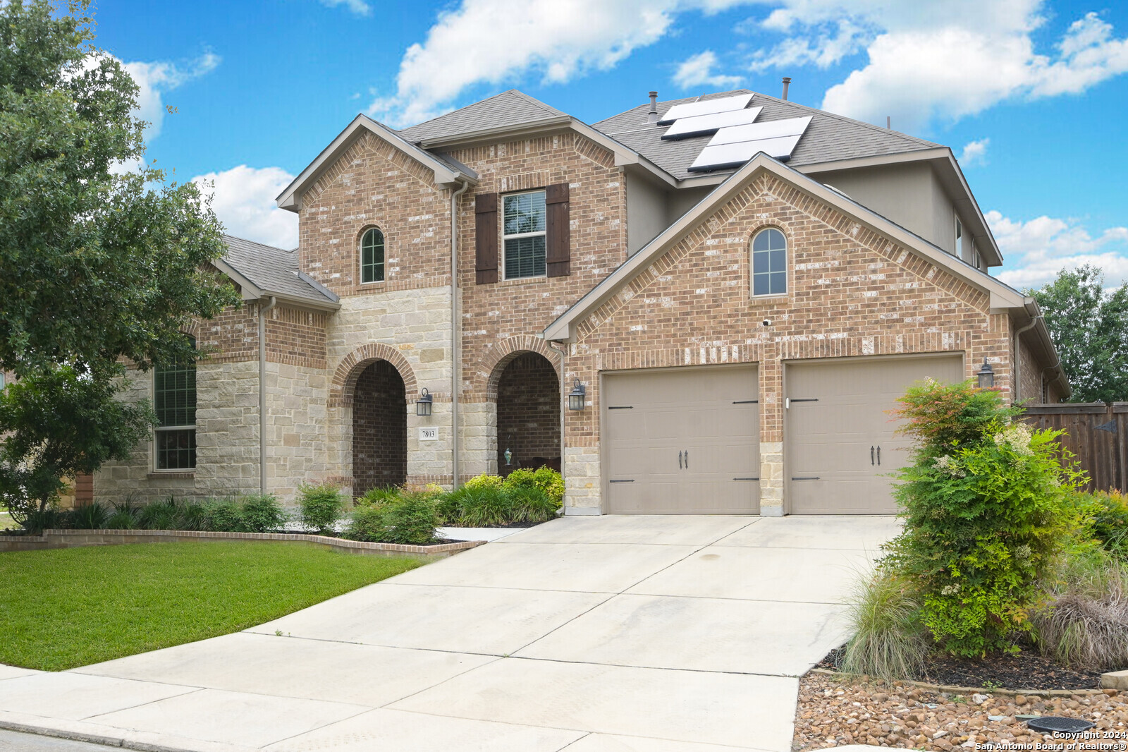
[[[62,366],[0,392],[0,427],[10,431],[0,445],[0,502],[17,523],[45,510],[63,476],[127,460],[156,425],[148,403],[120,402],[117,390],[105,374]]]

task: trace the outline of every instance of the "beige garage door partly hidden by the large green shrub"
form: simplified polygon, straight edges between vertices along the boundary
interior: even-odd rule
[[[899,356],[786,366],[785,431],[792,514],[891,514],[888,474],[908,463],[909,441],[885,410],[931,376],[963,379],[960,356]]]

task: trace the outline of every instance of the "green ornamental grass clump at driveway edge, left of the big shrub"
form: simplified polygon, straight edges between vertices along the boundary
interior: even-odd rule
[[[913,679],[924,668],[928,636],[920,624],[920,603],[902,577],[878,571],[860,579],[847,601],[853,637],[839,667],[885,682]]]

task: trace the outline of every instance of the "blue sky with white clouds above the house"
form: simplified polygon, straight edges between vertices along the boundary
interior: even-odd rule
[[[229,231],[297,244],[273,198],[358,112],[404,126],[517,87],[587,122],[743,86],[952,147],[1019,287],[1128,280],[1128,8],[1109,0],[275,0],[97,8],[149,158]],[[174,113],[165,107],[173,106]]]

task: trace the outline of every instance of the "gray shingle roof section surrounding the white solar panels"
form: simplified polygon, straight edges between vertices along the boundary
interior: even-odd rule
[[[748,91],[749,89],[737,89],[733,91],[708,94],[702,97],[659,102],[658,112],[660,115],[663,115],[670,107],[677,104],[697,102],[698,99],[715,99],[734,94],[747,94]],[[843,117],[841,115],[835,115],[834,113],[814,110],[813,107],[807,107],[794,102],[777,99],[766,94],[755,94],[748,106],[764,107],[756,119],[757,123],[812,115],[811,124],[808,125],[803,138],[799,140],[799,145],[787,161],[792,167],[837,161],[839,159],[874,157],[887,154],[904,154],[906,151],[940,148],[938,143],[925,141],[924,139],[878,125],[871,125],[870,123],[862,123],[856,120]],[[593,128],[634,149],[679,180],[699,175],[700,173],[689,173],[688,167],[713,137],[698,135],[678,141],[663,141],[662,133],[666,132],[668,125],[656,125],[647,122],[646,113],[649,110],[649,103],[642,104],[618,115],[613,115],[607,120],[601,120],[594,123]]]

